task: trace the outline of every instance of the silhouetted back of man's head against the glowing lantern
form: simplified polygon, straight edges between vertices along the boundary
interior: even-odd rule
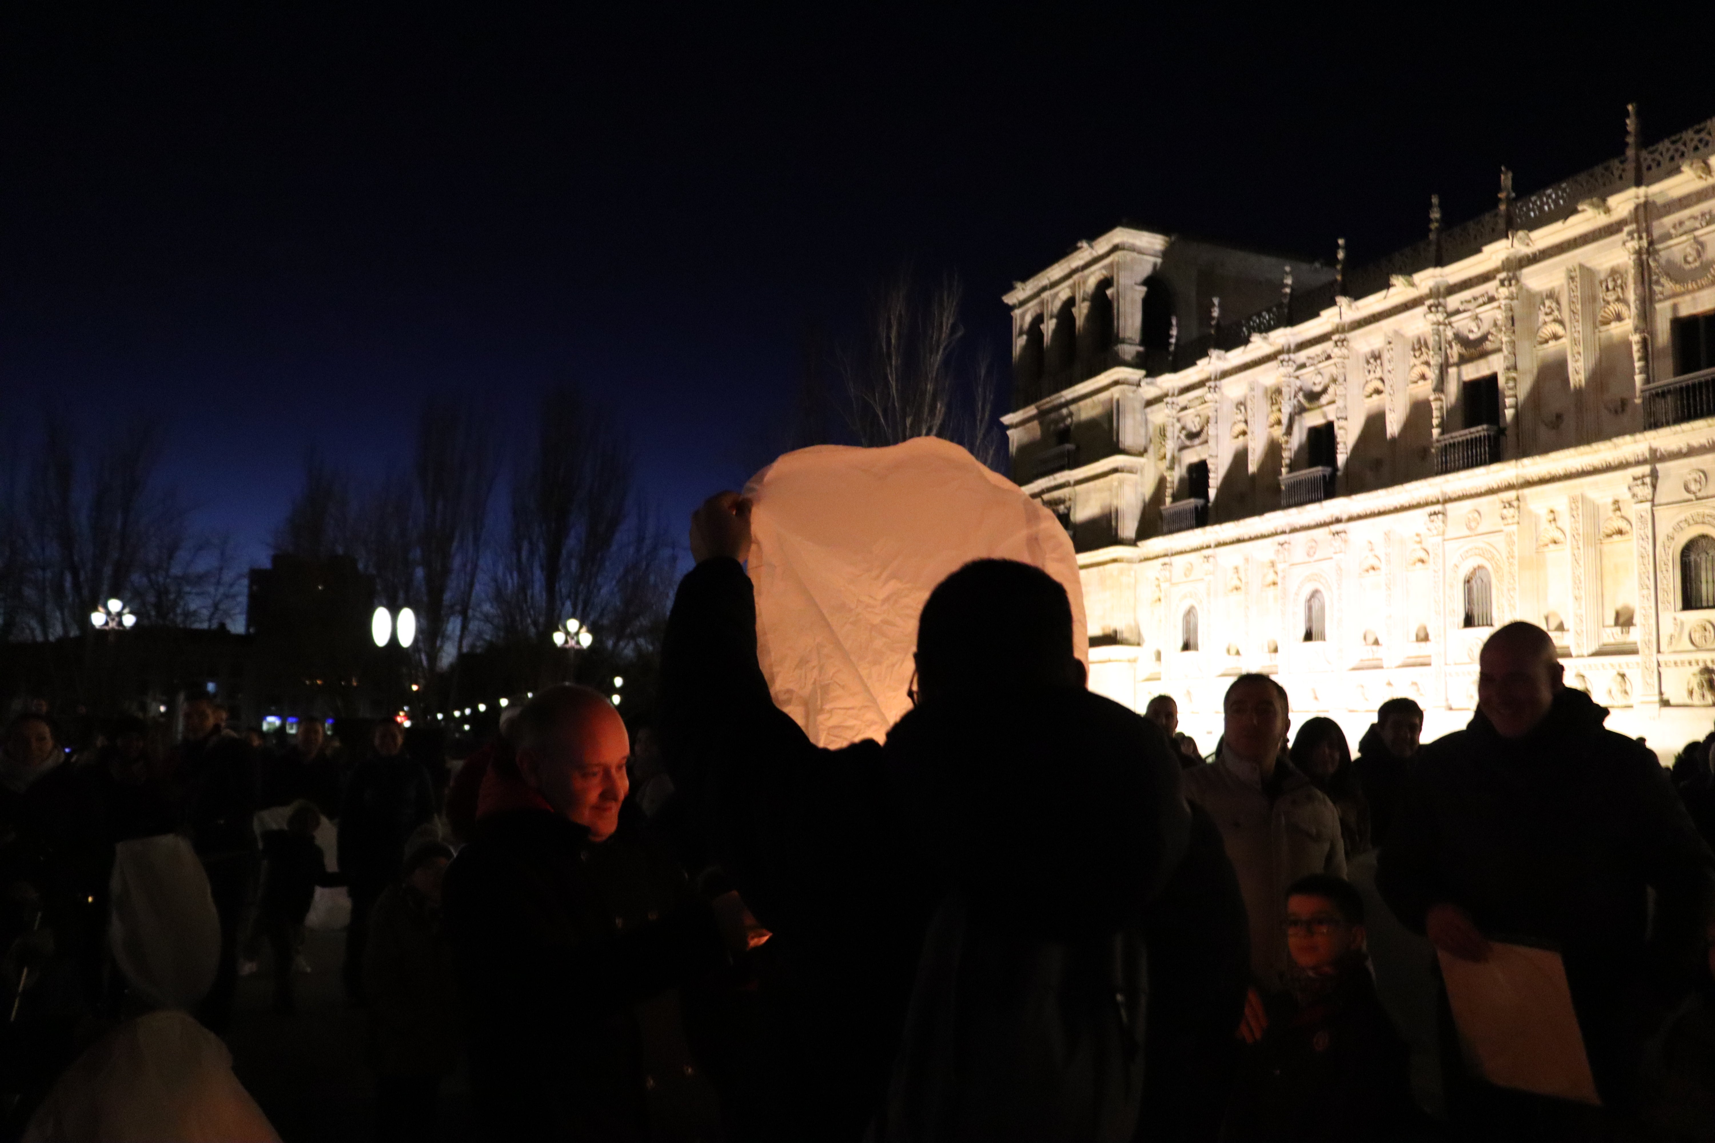
[[[1072,603],[1048,572],[1017,560],[972,560],[930,593],[918,619],[918,691],[1080,687]]]

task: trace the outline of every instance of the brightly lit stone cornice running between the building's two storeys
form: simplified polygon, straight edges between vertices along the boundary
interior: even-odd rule
[[[1453,500],[1516,492],[1557,480],[1624,473],[1626,470],[1703,452],[1715,452],[1715,420],[1614,437],[1574,449],[1561,449],[1544,456],[1502,461],[1501,464],[1489,464],[1466,473],[1453,473],[1451,476],[1413,480],[1391,488],[1358,492],[1355,495],[1322,500],[1321,504],[1262,512],[1261,516],[1247,516],[1245,519],[1209,524],[1207,528],[1180,531],[1170,536],[1149,536],[1137,542],[1137,555],[1139,559],[1173,557],[1185,552],[1266,540],[1310,528],[1327,528],[1331,524],[1372,519],[1393,512],[1435,507]],[[1075,476],[1075,473],[1068,473],[1068,476]],[[1086,552],[1079,557],[1079,564],[1084,566],[1086,557],[1098,557],[1110,550]]]

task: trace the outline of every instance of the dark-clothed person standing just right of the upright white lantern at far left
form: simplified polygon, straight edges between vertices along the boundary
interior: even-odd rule
[[[238,985],[238,937],[257,874],[252,817],[257,802],[257,761],[250,744],[226,730],[226,708],[213,699],[184,706],[185,739],[168,763],[184,829],[202,859],[214,910],[220,913],[220,968],[197,1020],[216,1035],[232,1023]]]

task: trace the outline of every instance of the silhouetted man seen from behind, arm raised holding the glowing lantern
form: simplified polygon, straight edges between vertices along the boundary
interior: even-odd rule
[[[691,550],[669,764],[775,934],[792,1138],[1168,1138],[1151,1124],[1218,1107],[1243,903],[1159,728],[1084,689],[1065,591],[955,572],[919,620],[916,709],[825,751],[756,663],[748,506],[705,504]]]

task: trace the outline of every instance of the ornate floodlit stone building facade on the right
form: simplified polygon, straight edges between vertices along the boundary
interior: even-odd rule
[[[1636,137],[1636,123],[1629,135]],[[1091,685],[1213,749],[1226,680],[1463,725],[1554,634],[1662,752],[1715,721],[1715,120],[1372,266],[1113,230],[1007,295],[1014,475],[1072,531]]]

